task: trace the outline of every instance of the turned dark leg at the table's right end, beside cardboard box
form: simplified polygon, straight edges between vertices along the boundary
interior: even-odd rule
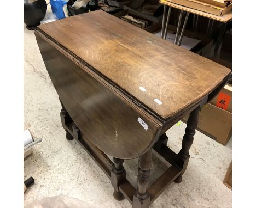
[[[179,175],[178,178],[174,180],[174,182],[176,183],[182,182],[182,175],[188,167],[188,161],[190,157],[189,149],[194,141],[194,135],[195,135],[195,129],[198,123],[199,111],[200,111],[200,107],[194,109],[194,111],[190,113],[187,121],[187,128],[185,129],[185,134],[182,139],[182,149],[178,153],[178,156],[181,157],[182,160],[184,161],[183,169],[182,169],[181,175]]]

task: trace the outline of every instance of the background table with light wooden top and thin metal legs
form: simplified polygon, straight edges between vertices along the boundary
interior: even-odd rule
[[[222,29],[219,32],[219,36],[218,36],[218,39],[217,39],[217,42],[216,42],[215,50],[216,51],[218,50],[219,45],[220,45],[220,40],[222,40],[222,38],[223,38],[226,26],[227,26],[228,22],[232,19],[232,10],[228,11],[228,13],[224,14],[223,16],[218,16],[218,15],[213,15],[213,14],[210,14],[210,13],[206,13],[205,11],[200,11],[200,10],[197,10],[197,9],[192,9],[192,8],[189,8],[189,7],[185,7],[183,5],[175,4],[175,3],[172,3],[172,2],[169,2],[169,1],[166,1],[166,0],[160,0],[159,3],[164,4],[164,14],[163,14],[163,17],[162,17],[161,38],[166,39],[168,23],[169,23],[170,14],[171,14],[171,8],[173,7],[173,8],[181,10],[181,13],[179,14],[179,21],[178,21],[178,27],[177,27],[176,38],[175,38],[174,44],[178,44],[179,46],[181,45],[182,38],[183,38],[183,33],[184,33],[184,30],[185,30],[185,27],[186,27],[187,21],[188,21],[188,16],[189,16],[190,13],[192,13],[192,14],[194,14],[193,27],[194,27],[194,25],[195,25],[195,27],[197,27],[197,20],[198,19],[196,20],[196,23],[195,23],[195,15],[207,17],[209,19],[206,34],[211,33],[214,21],[224,23]],[[168,15],[167,15],[167,20],[166,20],[166,25],[165,25],[166,7],[169,7],[169,9],[168,9]],[[182,19],[183,11],[187,12],[187,14],[185,16],[185,21],[183,23],[181,35],[178,39],[179,28],[181,27],[181,19]],[[211,29],[210,29],[210,20],[212,20]]]

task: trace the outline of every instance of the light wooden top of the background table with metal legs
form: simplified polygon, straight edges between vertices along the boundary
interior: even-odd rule
[[[205,11],[200,11],[200,10],[197,10],[197,9],[192,9],[192,8],[189,8],[189,7],[185,7],[183,5],[175,4],[175,3],[172,3],[172,2],[169,2],[169,1],[166,1],[166,0],[160,0],[159,3],[165,4],[169,7],[181,9],[183,11],[188,11],[189,13],[192,13],[192,14],[207,17],[207,18],[210,18],[212,20],[219,21],[219,22],[224,22],[225,23],[225,22],[228,22],[229,20],[232,19],[232,10],[228,11],[226,14],[224,14],[222,16],[218,16],[218,15],[213,15],[213,14],[210,14],[210,13],[206,13]]]

